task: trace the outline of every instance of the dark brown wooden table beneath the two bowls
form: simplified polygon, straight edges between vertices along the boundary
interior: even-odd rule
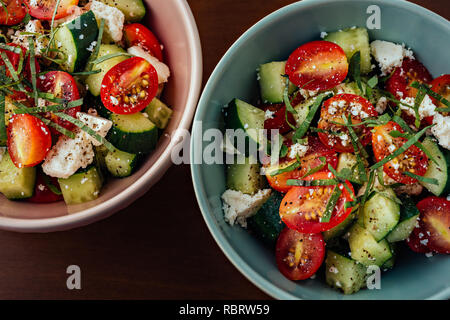
[[[190,0],[204,81],[227,48],[293,0]],[[420,0],[450,17],[448,0]],[[176,193],[177,201],[173,201]],[[66,268],[81,268],[68,290]],[[51,234],[0,232],[0,299],[269,299],[225,258],[195,200],[188,166],[173,166],[145,196],[112,217]]]

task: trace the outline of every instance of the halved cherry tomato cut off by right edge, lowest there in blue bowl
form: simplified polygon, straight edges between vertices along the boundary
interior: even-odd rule
[[[428,197],[417,204],[419,224],[428,237],[427,246],[438,253],[450,253],[450,201]]]

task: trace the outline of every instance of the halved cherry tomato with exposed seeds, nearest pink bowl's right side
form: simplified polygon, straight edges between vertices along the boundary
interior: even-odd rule
[[[109,70],[102,81],[100,96],[104,106],[119,114],[136,113],[156,96],[158,75],[140,57],[129,58]]]

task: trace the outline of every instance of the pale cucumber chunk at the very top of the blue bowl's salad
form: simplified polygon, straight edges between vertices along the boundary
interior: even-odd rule
[[[349,28],[329,33],[324,40],[340,46],[347,56],[347,60],[357,51],[361,54],[361,73],[369,73],[371,68],[369,34],[366,28]]]

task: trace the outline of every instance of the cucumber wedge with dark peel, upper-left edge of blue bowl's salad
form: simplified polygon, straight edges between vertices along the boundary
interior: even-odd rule
[[[253,147],[258,147],[263,141],[262,130],[264,129],[264,111],[248,104],[242,100],[234,99],[229,104],[228,107],[224,109],[225,111],[225,122],[226,128],[233,129],[236,135],[243,130],[244,141],[239,141],[237,139],[230,138],[230,142],[243,154],[248,155],[251,149],[250,145]],[[239,130],[241,129],[241,130]]]

